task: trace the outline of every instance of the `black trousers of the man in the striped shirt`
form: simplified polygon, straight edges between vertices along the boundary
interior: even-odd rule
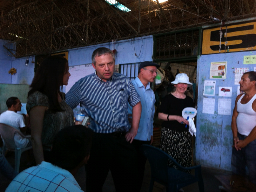
[[[116,192],[137,191],[137,155],[124,134],[94,133],[86,165],[86,192],[102,192],[109,170]]]

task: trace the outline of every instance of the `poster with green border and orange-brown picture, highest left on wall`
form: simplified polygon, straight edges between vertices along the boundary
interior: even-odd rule
[[[211,62],[210,79],[214,78],[226,78],[227,61]]]

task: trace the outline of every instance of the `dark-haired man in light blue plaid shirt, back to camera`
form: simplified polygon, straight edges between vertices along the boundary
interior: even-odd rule
[[[53,141],[50,161],[20,172],[5,192],[82,192],[74,176],[90,157],[92,133],[83,125],[60,130]]]

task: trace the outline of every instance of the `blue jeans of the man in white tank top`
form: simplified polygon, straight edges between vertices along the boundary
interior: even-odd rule
[[[239,140],[247,136],[237,133]],[[249,170],[249,179],[256,184],[256,139],[241,150],[232,149],[231,168],[234,174],[246,176],[245,167]]]

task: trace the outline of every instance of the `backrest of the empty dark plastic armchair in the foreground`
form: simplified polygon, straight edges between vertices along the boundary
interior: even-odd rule
[[[171,156],[159,148],[146,144],[143,144],[140,148],[149,161],[151,175],[155,177],[156,181],[159,179],[168,183],[169,160],[171,160],[178,167],[181,167],[181,165],[179,165]]]

